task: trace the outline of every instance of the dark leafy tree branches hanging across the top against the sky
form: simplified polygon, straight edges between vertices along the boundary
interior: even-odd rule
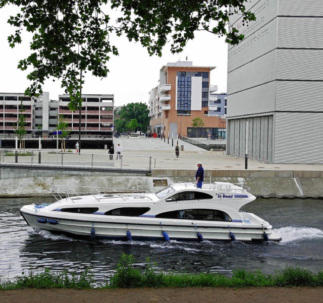
[[[159,56],[168,41],[171,52],[182,51],[197,30],[237,44],[243,35],[229,24],[229,16],[239,12],[243,24],[255,20],[245,9],[247,1],[0,0],[0,8],[12,4],[20,9],[8,20],[15,28],[8,37],[11,47],[21,43],[23,30],[33,34],[31,54],[18,65],[31,70],[25,94],[38,96],[46,79],[61,79],[70,95],[69,107],[75,110],[82,103],[84,73],[106,77],[110,56],[118,55],[111,36],[139,41],[150,55]]]

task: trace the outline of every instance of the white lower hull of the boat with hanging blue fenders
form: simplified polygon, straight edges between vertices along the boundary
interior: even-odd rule
[[[116,218],[92,216],[78,220],[64,216],[49,217],[21,209],[28,225],[52,233],[66,233],[75,237],[118,240],[185,240],[185,241],[280,241],[272,226],[260,226],[246,222],[204,222],[198,220],[158,218]],[[264,234],[265,232],[265,234]]]

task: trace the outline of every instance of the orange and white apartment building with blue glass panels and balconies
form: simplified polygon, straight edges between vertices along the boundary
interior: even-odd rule
[[[150,133],[169,138],[188,136],[192,120],[201,117],[204,127],[200,137],[216,130],[224,134],[226,117],[217,113],[218,97],[212,96],[218,87],[210,85],[213,69],[193,66],[189,61],[168,63],[160,69],[159,85],[149,92]]]

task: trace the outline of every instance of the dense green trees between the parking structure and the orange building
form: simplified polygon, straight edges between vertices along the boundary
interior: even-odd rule
[[[120,134],[126,132],[128,129],[139,129],[142,132],[146,132],[149,126],[149,110],[148,106],[142,102],[129,103],[122,107],[116,107],[115,109],[115,129]],[[116,118],[119,116],[119,118]],[[135,128],[128,128],[127,124],[136,119],[138,126]]]

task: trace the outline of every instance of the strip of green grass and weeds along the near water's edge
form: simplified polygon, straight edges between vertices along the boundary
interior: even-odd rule
[[[156,263],[146,259],[143,270],[134,267],[134,257],[122,254],[115,274],[99,288],[133,287],[317,287],[323,286],[323,271],[312,272],[300,267],[287,267],[275,275],[235,270],[231,278],[221,274],[166,274],[157,270]],[[93,289],[94,278],[86,269],[81,274],[67,271],[53,273],[45,269],[40,274],[22,274],[14,281],[0,279],[0,290],[19,288],[77,288]]]

